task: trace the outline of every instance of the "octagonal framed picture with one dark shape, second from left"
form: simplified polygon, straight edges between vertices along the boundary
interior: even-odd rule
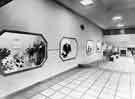
[[[63,37],[60,41],[59,56],[62,61],[74,59],[77,56],[77,49],[76,38]]]

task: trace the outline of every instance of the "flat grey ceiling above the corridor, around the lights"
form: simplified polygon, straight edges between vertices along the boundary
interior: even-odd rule
[[[56,0],[85,16],[103,29],[117,28],[112,17],[121,15],[125,26],[135,26],[135,0],[94,0],[94,6],[83,6],[80,0]]]

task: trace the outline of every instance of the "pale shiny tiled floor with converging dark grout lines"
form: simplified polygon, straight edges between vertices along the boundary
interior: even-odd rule
[[[135,73],[76,68],[6,99],[135,99]]]

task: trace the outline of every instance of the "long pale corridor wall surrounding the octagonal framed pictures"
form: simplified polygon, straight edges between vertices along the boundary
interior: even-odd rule
[[[80,29],[85,24],[86,30]],[[48,59],[44,66],[10,76],[0,76],[0,96],[13,93],[56,74],[101,58],[99,54],[86,56],[87,40],[101,40],[102,33],[94,25],[51,0],[14,0],[0,8],[1,29],[42,33],[48,41]],[[63,36],[77,38],[79,49],[74,60],[59,58],[59,41]]]

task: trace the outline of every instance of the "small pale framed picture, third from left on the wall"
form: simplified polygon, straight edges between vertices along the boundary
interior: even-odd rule
[[[88,40],[86,43],[86,54],[89,56],[94,52],[94,41]]]

